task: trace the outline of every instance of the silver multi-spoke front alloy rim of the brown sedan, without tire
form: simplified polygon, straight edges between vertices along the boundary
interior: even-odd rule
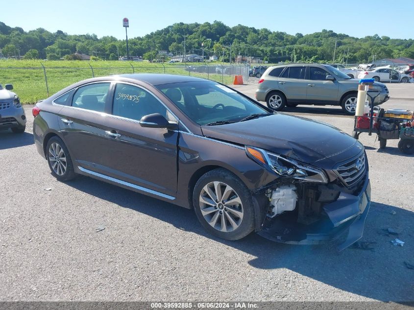
[[[231,232],[242,223],[242,200],[231,186],[219,181],[210,182],[201,190],[199,201],[201,214],[214,229]]]

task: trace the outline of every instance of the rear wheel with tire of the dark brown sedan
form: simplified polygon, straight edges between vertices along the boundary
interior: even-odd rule
[[[71,155],[62,139],[56,136],[49,139],[46,156],[52,175],[59,181],[69,181],[76,176]]]

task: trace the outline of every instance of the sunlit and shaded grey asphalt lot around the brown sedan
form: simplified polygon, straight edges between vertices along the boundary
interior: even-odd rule
[[[238,86],[254,95],[255,85]],[[387,85],[386,108],[414,108],[414,84]],[[26,132],[0,132],[0,301],[414,301],[414,157],[362,134],[372,187],[363,241],[274,243],[208,235],[191,210],[80,176],[61,183]],[[340,107],[287,113],[352,132]],[[46,190],[48,189],[48,190]],[[50,190],[49,190],[50,189]],[[104,230],[96,232],[98,226]],[[394,246],[382,229],[405,241]]]

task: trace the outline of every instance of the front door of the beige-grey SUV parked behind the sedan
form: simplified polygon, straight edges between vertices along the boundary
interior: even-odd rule
[[[326,70],[319,67],[309,67],[309,72],[306,74],[307,96],[308,103],[336,103],[338,102],[339,82],[326,80],[327,75],[332,75]]]

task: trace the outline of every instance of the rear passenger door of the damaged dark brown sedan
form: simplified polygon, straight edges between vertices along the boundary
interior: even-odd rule
[[[106,113],[111,82],[90,83],[77,88],[71,104],[59,111],[59,127],[74,165],[102,172],[107,165]]]

